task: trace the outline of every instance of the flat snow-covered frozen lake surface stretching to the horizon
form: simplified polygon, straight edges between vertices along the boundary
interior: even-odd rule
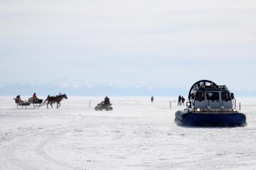
[[[103,98],[16,109],[0,97],[0,169],[256,169],[256,98],[237,98],[248,126],[233,128],[176,126],[176,97],[110,97],[113,111],[94,111]]]

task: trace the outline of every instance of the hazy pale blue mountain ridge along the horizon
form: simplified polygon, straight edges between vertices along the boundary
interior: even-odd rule
[[[255,97],[255,90],[232,90],[235,96]],[[147,85],[112,85],[111,83],[81,83],[81,82],[33,82],[33,83],[0,83],[0,96],[39,96],[66,93],[69,96],[185,96],[189,93],[187,87],[171,87],[161,84]]]

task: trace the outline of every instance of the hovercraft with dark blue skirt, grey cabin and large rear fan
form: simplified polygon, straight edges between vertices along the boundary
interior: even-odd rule
[[[187,109],[175,113],[180,126],[246,126],[246,116],[236,109],[236,99],[225,85],[199,80],[189,91]]]

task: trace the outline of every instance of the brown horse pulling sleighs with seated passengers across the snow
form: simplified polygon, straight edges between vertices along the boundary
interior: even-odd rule
[[[17,105],[17,108],[19,108],[19,106],[23,109],[28,109],[27,107],[30,106],[31,104],[33,105],[34,109],[39,109],[41,106],[47,105],[47,109],[48,109],[48,105],[50,104],[52,107],[52,104],[57,103],[57,109],[60,108],[60,102],[63,99],[67,99],[66,94],[59,94],[57,96],[49,96],[47,97],[47,99],[45,100],[45,102],[43,102],[43,99],[34,99],[34,97],[29,98],[27,101],[23,101],[20,100],[20,96],[17,96],[16,98],[14,98],[15,103]]]

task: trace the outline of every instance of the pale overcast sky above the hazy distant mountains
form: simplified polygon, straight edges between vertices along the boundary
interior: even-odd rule
[[[255,0],[0,0],[0,25],[0,86],[209,79],[256,89]]]

